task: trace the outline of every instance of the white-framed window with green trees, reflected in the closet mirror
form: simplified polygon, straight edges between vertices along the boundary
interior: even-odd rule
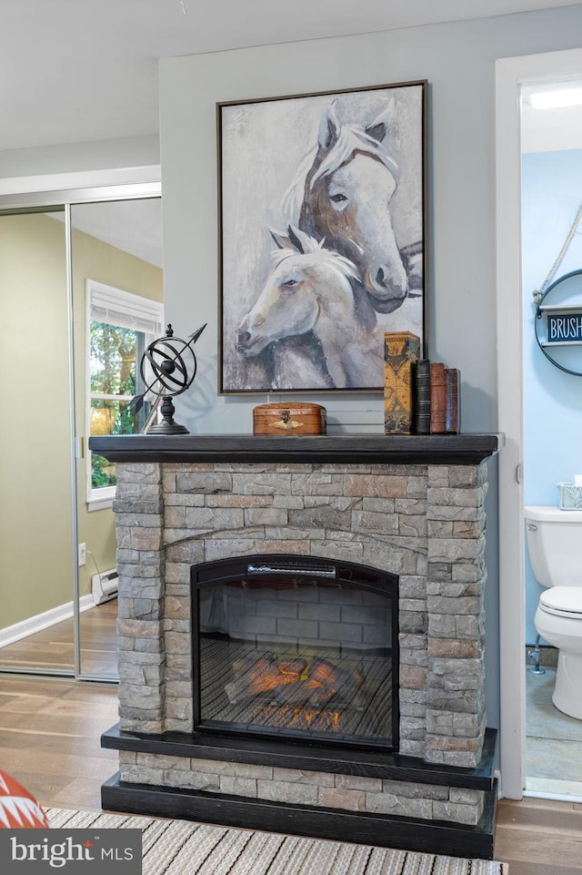
[[[141,432],[149,412],[127,405],[146,388],[140,362],[146,346],[162,334],[161,303],[86,280],[87,434]],[[87,505],[98,510],[115,496],[115,464],[87,451]]]

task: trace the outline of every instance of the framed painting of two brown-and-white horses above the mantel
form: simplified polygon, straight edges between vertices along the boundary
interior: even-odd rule
[[[385,331],[426,345],[426,82],[217,114],[219,391],[381,391]]]

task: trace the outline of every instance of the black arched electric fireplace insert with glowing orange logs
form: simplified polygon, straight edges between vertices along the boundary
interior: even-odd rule
[[[196,728],[396,748],[395,575],[262,555],[192,581]]]

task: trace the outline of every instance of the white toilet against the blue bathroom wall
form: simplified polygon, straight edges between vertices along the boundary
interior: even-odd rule
[[[582,720],[582,511],[532,507],[526,511],[527,552],[539,596],[534,625],[557,647],[552,701]]]

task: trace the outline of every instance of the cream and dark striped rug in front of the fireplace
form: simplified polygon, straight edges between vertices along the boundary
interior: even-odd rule
[[[507,875],[462,860],[273,832],[97,811],[45,809],[55,829],[142,829],[143,875]]]

